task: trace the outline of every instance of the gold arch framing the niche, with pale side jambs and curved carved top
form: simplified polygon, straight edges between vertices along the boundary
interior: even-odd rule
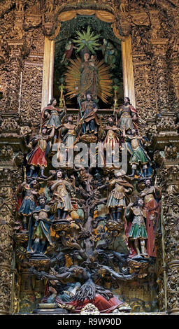
[[[48,38],[45,36],[45,47],[43,57],[43,90],[42,90],[42,109],[50,102],[53,90],[53,66],[55,55],[55,36],[59,34],[61,22],[72,20],[76,15],[96,15],[96,18],[104,22],[113,23],[113,32],[117,38],[120,38],[122,45],[122,69],[123,69],[123,83],[124,83],[124,97],[131,99],[131,104],[136,106],[135,93],[134,93],[134,73],[131,55],[131,36],[120,36],[115,25],[115,16],[105,10],[91,10],[91,9],[78,9],[68,10],[59,13],[59,25],[55,34]]]

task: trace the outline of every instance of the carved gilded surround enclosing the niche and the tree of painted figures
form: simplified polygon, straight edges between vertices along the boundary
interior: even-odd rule
[[[111,22],[115,35],[122,40],[125,93],[135,104],[135,83],[137,109],[144,123],[141,129],[147,132],[150,149],[155,151],[156,183],[162,188],[162,244],[158,241],[158,252],[163,253],[163,257],[157,260],[157,302],[159,309],[164,311],[160,314],[179,314],[178,7],[175,0],[159,2],[3,1],[0,8],[0,80],[3,93],[0,131],[0,144],[3,146],[0,160],[3,218],[0,228],[3,237],[0,290],[3,303],[0,314],[19,311],[20,293],[26,293],[21,281],[22,284],[26,279],[29,281],[26,262],[19,268],[15,261],[16,257],[16,260],[21,258],[17,253],[18,247],[20,244],[26,246],[27,236],[24,239],[20,236],[19,240],[15,237],[14,241],[16,188],[24,177],[22,164],[24,153],[29,151],[26,144],[26,138],[31,134],[29,123],[36,133],[41,92],[45,105],[52,94],[55,34],[59,33],[63,20],[70,20],[71,16],[73,18],[84,12]],[[18,108],[20,94],[22,98]],[[157,111],[160,115],[156,118]]]

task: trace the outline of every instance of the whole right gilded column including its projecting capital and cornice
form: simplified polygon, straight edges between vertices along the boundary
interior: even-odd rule
[[[162,75],[162,68],[160,71]],[[168,96],[165,97],[164,93],[164,102],[162,103],[161,100],[159,107],[162,113],[156,120],[156,133],[152,135],[152,149],[155,151],[154,159],[158,166],[157,176],[162,189],[162,258],[157,279],[159,285],[158,302],[161,309],[168,314],[179,314],[177,288],[179,269],[179,125],[176,121],[176,113],[164,108],[167,102]]]

